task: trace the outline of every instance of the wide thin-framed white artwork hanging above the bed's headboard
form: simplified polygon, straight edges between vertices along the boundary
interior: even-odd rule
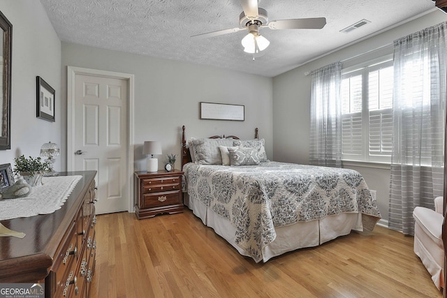
[[[244,105],[200,102],[200,119],[244,121]]]

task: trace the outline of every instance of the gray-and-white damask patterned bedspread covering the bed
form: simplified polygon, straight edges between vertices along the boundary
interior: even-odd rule
[[[184,191],[228,219],[236,244],[256,262],[275,239],[274,227],[344,212],[381,217],[355,170],[274,161],[239,167],[187,163],[183,170]]]

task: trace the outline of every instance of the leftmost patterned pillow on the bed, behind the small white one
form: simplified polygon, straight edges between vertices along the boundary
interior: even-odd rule
[[[232,146],[233,139],[198,139],[192,140],[195,149],[196,163],[200,165],[221,165],[221,151],[219,146]]]

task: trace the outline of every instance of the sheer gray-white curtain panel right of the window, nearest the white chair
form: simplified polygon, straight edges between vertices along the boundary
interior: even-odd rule
[[[393,154],[388,226],[413,234],[413,209],[444,187],[447,22],[394,42]]]

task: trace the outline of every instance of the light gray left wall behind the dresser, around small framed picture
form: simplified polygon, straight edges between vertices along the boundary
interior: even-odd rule
[[[22,154],[39,156],[45,142],[61,144],[61,42],[40,1],[0,0],[0,10],[13,24],[11,149],[0,151],[0,163],[13,166]],[[56,90],[55,122],[36,118],[37,75]]]

